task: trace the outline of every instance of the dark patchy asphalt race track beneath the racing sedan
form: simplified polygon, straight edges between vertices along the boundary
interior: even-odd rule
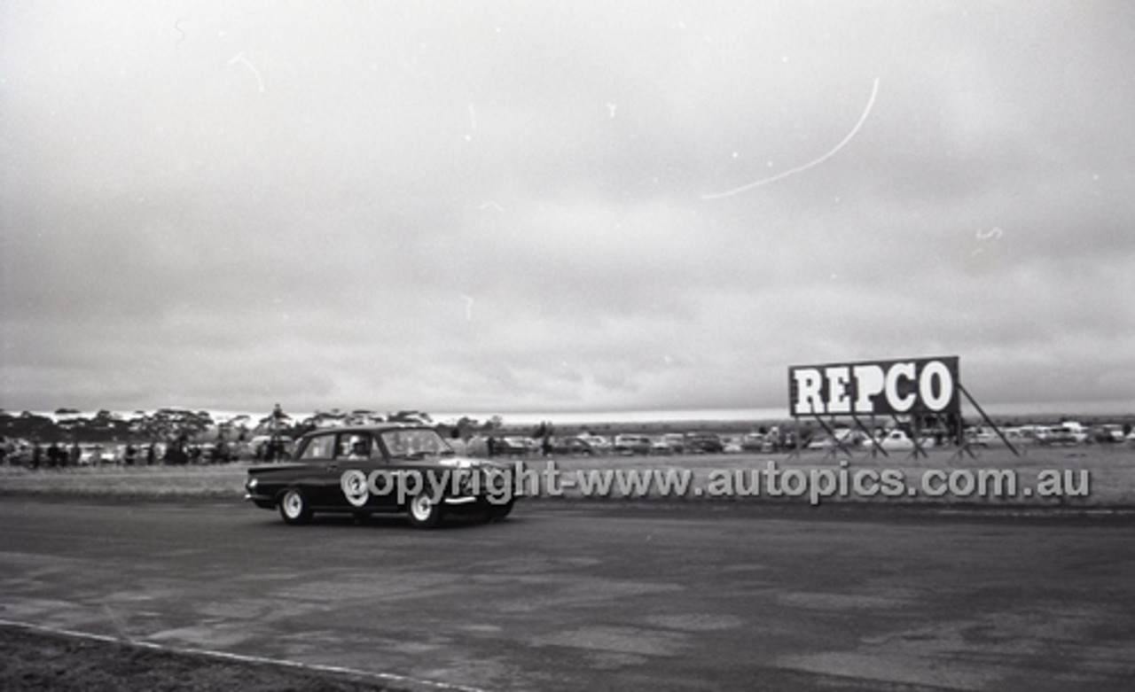
[[[410,689],[1135,685],[1130,515],[541,500],[418,531],[3,497],[0,522],[3,621]]]

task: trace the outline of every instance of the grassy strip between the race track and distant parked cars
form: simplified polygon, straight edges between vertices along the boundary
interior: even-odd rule
[[[505,459],[507,461],[507,459]],[[516,459],[519,461],[519,459]],[[1011,471],[1022,487],[1035,486],[1039,474],[1056,471],[1074,474],[1078,481],[1088,480],[1088,488],[1077,495],[1057,498],[1015,497],[983,498],[980,496],[927,497],[925,495],[898,498],[876,495],[864,497],[855,492],[840,497],[822,498],[822,504],[882,504],[882,505],[958,505],[958,506],[1012,506],[1012,507],[1084,507],[1084,508],[1133,508],[1135,507],[1135,448],[1128,446],[1082,446],[1031,448],[1023,456],[1015,456],[1008,449],[981,450],[976,457],[960,456],[950,449],[931,450],[928,457],[914,458],[909,454],[892,454],[889,457],[857,455],[831,455],[822,452],[805,452],[799,456],[781,455],[700,455],[700,456],[637,456],[637,457],[549,457],[527,459],[529,469],[543,472],[546,463],[565,474],[603,471],[689,471],[690,488],[707,488],[716,474],[742,474],[748,492],[730,497],[708,495],[669,499],[691,501],[759,501],[770,504],[809,504],[809,496],[772,497],[767,487],[751,492],[751,480],[773,464],[780,472],[798,471],[804,474],[818,472],[881,473],[894,470],[903,474],[908,483],[916,484],[927,470],[945,473],[982,471]],[[244,492],[247,463],[216,466],[103,466],[66,470],[28,470],[23,467],[0,467],[0,493],[49,497],[98,497],[124,499],[233,499],[239,500]],[[1086,476],[1081,473],[1086,472]],[[763,480],[763,479],[762,479]],[[596,499],[583,498],[580,489],[566,489],[562,498],[549,499]],[[633,499],[659,499],[657,492]],[[617,492],[607,493],[607,501],[624,499]]]

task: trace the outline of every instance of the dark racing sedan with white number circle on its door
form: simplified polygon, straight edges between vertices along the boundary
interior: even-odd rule
[[[323,512],[405,513],[411,524],[428,529],[451,512],[507,516],[514,489],[493,484],[507,470],[457,457],[432,428],[387,424],[309,432],[296,444],[293,461],[251,466],[244,487],[245,499],[279,510],[288,524],[306,523]],[[379,491],[379,479],[397,484],[398,478],[407,480],[396,491]]]

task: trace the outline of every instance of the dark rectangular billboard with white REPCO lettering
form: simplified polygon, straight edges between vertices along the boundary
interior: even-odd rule
[[[960,413],[958,357],[788,369],[792,415]]]

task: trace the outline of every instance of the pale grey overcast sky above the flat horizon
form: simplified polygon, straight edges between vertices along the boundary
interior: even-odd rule
[[[1135,411],[1128,2],[0,6],[0,407]]]

